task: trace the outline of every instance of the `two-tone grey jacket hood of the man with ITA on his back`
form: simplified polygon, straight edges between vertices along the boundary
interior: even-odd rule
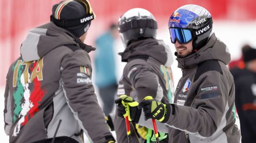
[[[52,49],[63,45],[77,45],[90,52],[95,48],[83,44],[64,28],[53,22],[33,28],[20,47],[20,54],[25,62],[39,60]]]

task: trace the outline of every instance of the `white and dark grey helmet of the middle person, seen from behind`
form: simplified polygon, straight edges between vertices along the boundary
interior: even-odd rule
[[[156,38],[157,21],[149,11],[134,8],[125,12],[119,18],[118,31],[126,47],[131,40]]]

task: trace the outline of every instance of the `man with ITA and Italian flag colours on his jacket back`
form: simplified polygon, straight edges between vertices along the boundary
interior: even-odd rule
[[[53,6],[51,21],[33,28],[10,66],[5,132],[10,142],[115,142],[98,105],[83,43],[95,18],[86,0]]]

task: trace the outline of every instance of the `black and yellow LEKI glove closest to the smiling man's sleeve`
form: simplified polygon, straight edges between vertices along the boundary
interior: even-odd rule
[[[170,116],[170,107],[152,98],[146,96],[139,104],[139,109],[143,108],[145,119],[156,119],[159,122],[166,123]]]

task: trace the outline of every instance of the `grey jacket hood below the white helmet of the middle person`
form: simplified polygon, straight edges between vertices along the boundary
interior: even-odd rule
[[[165,66],[173,64],[173,55],[169,46],[165,45],[162,40],[152,38],[133,42],[119,54],[122,56],[122,62],[127,62],[137,56],[151,56]]]

